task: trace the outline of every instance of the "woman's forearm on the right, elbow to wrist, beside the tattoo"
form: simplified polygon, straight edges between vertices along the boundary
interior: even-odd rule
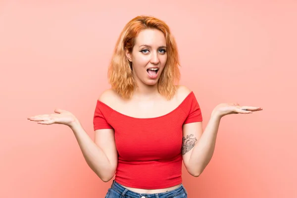
[[[212,158],[221,117],[211,115],[201,137],[193,148],[189,164],[195,176],[199,176]]]

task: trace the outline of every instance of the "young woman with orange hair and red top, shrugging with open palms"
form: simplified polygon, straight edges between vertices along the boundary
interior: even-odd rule
[[[220,120],[260,107],[217,105],[202,131],[194,93],[178,86],[177,46],[161,20],[138,16],[124,27],[108,70],[111,89],[97,100],[95,141],[69,111],[29,117],[39,124],[69,126],[92,170],[115,180],[106,198],[186,198],[182,162],[198,177],[209,163]]]

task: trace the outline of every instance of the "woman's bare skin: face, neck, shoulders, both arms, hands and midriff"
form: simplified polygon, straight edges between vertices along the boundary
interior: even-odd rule
[[[168,101],[157,91],[157,82],[167,60],[166,40],[162,32],[153,29],[140,32],[132,52],[126,51],[126,56],[132,62],[133,75],[138,88],[135,89],[132,98],[128,101],[121,99],[112,89],[104,91],[99,100],[114,110],[132,117],[157,117],[175,109],[191,92],[185,86],[177,86],[176,96]],[[149,67],[158,67],[157,78],[151,79],[148,76],[147,69]],[[209,163],[214,152],[222,117],[229,114],[250,114],[260,110],[262,110],[261,107],[221,103],[213,109],[204,131],[202,122],[185,124],[183,126],[182,156],[188,172],[194,177],[198,177]],[[59,108],[54,112],[54,114],[31,116],[28,117],[28,120],[43,125],[64,124],[69,126],[88,165],[102,181],[110,181],[117,166],[114,131],[112,129],[97,130],[93,141],[71,112]],[[174,190],[179,186],[154,190],[126,188],[137,193],[150,194]]]

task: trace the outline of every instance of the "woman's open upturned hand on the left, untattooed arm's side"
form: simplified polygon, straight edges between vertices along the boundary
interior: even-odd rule
[[[74,123],[78,122],[76,117],[69,111],[62,109],[55,109],[55,114],[43,114],[43,115],[35,115],[28,117],[28,120],[35,121],[38,124],[64,124],[69,127],[72,127]]]

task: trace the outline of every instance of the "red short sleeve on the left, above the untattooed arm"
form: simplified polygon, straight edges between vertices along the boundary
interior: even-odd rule
[[[108,115],[109,115],[109,110],[107,106],[105,106],[102,102],[98,100],[95,108],[94,119],[93,119],[95,131],[98,129],[112,129],[110,124],[105,119],[105,116],[108,116]]]

